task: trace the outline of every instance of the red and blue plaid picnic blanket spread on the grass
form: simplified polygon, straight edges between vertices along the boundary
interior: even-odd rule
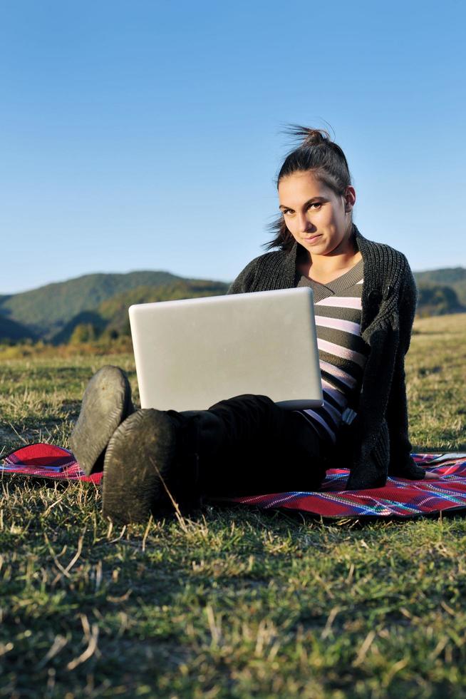
[[[296,491],[229,501],[269,509],[282,507],[323,517],[411,517],[466,508],[466,454],[413,454],[424,466],[423,481],[389,478],[383,488],[347,491],[348,469],[327,471],[319,492]],[[2,474],[21,474],[64,481],[98,484],[102,474],[86,476],[71,451],[53,444],[30,444],[0,461]]]

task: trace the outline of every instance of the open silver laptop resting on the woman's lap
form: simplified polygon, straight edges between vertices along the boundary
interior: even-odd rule
[[[322,404],[308,287],[133,305],[143,408],[205,410],[245,393],[287,409]]]

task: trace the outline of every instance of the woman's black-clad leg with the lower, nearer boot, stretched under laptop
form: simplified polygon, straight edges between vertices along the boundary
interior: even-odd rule
[[[103,514],[144,521],[173,501],[314,490],[324,475],[314,430],[267,397],[238,396],[203,411],[140,410],[110,439]]]

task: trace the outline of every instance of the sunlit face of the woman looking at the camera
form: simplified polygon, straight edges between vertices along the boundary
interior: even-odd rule
[[[279,200],[286,228],[311,255],[338,255],[351,247],[353,187],[338,196],[311,171],[297,172],[280,180]]]

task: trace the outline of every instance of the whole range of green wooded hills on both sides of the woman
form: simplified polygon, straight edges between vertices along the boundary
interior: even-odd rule
[[[466,310],[466,269],[415,272],[420,315]],[[31,291],[0,295],[0,341],[43,339],[56,344],[128,333],[133,303],[221,295],[227,284],[178,277],[170,272],[92,274]],[[75,335],[76,334],[76,335]]]

